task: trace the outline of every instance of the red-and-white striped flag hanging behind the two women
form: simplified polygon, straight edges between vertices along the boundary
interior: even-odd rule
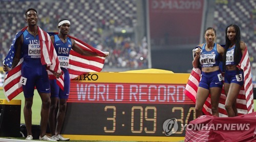
[[[242,114],[251,113],[253,112],[253,109],[254,109],[251,67],[250,67],[250,60],[249,60],[247,47],[245,49],[244,55],[238,67],[244,70],[244,86],[240,90],[239,95],[237,97],[238,115],[242,115]],[[186,88],[184,91],[184,94],[195,103],[196,103],[196,94],[197,94],[200,78],[201,78],[201,70],[199,68],[193,68],[188,78],[188,82],[186,84]],[[220,117],[227,116],[227,112],[225,110],[225,100],[226,100],[226,95],[223,87],[221,91],[220,102],[219,102]],[[211,115],[210,95],[208,96],[207,100],[204,103],[203,112],[206,115]]]

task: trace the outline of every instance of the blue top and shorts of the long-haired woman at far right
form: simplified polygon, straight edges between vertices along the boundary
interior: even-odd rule
[[[232,48],[227,50],[226,54],[226,65],[235,65],[234,63],[234,45]],[[240,56],[241,60],[241,56]],[[237,83],[241,86],[244,84],[244,72],[243,70],[225,70],[225,83]]]

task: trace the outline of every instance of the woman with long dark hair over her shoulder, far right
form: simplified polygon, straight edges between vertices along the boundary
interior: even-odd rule
[[[225,31],[225,53],[223,69],[225,72],[224,89],[226,93],[225,109],[229,117],[237,116],[237,97],[244,85],[244,70],[239,69],[242,56],[247,51],[245,42],[241,41],[240,28],[229,25]]]

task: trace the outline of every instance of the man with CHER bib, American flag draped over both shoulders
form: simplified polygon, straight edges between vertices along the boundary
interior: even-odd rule
[[[52,70],[57,78],[61,75],[61,69],[50,35],[37,26],[37,11],[29,8],[25,16],[28,26],[16,34],[4,60],[4,71],[9,71],[4,82],[4,92],[8,100],[24,92],[24,118],[28,133],[26,140],[32,140],[31,108],[36,86],[42,101],[39,139],[56,141],[46,135],[51,102],[47,69]]]

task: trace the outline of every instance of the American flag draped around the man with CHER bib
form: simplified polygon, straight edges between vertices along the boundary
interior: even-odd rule
[[[27,28],[28,27],[25,27],[22,30],[20,30],[15,35],[15,38],[12,41],[9,53],[7,54],[6,58],[4,59],[4,64],[6,64],[9,67],[12,66],[12,61],[15,56],[16,39],[19,36],[21,36]],[[38,27],[38,36],[39,36],[39,44],[40,44],[40,50],[41,50],[42,65],[47,65],[48,68],[50,68],[51,70],[54,70],[55,72],[60,73],[61,69],[59,66],[59,60],[57,58],[57,53],[54,49],[54,46],[51,42],[50,35]],[[20,92],[23,91],[22,84],[19,83],[20,77],[22,76],[22,73],[21,73],[22,62],[23,62],[23,55],[21,56],[19,63],[14,68],[12,68],[8,72],[8,74],[6,74],[3,87],[4,87],[5,96],[8,101],[12,100]],[[49,74],[49,76],[51,76],[51,75],[52,74]],[[64,83],[63,83],[62,77],[60,77],[58,79],[58,85],[60,86],[60,88],[63,89]]]

